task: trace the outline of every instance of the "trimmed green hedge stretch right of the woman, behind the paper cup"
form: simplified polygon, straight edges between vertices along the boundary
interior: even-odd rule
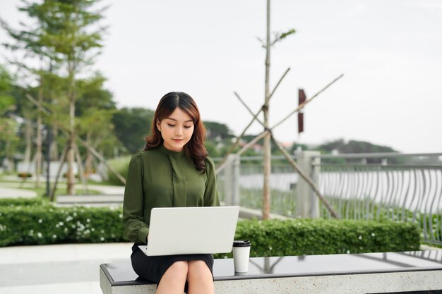
[[[395,252],[420,246],[416,225],[393,221],[246,220],[239,221],[235,239],[251,241],[251,257]]]

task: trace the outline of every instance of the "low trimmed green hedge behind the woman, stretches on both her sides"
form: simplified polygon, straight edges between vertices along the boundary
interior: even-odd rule
[[[121,208],[0,206],[0,246],[124,242],[121,219]],[[244,220],[235,239],[251,240],[251,257],[419,250],[417,226],[393,221]]]

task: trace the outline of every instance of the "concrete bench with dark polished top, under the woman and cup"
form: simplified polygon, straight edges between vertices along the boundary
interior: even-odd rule
[[[215,259],[217,294],[442,293],[442,250],[251,258],[234,272],[233,259]],[[100,265],[104,294],[155,293],[131,263]]]

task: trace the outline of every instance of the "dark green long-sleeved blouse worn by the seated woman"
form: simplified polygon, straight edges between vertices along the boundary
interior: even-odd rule
[[[146,243],[153,207],[219,206],[215,164],[205,159],[205,173],[193,166],[184,151],[163,145],[138,152],[129,163],[123,202],[124,236]]]

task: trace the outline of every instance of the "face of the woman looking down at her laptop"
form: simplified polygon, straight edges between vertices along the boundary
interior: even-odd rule
[[[180,152],[191,140],[193,119],[177,107],[170,116],[157,121],[157,128],[161,132],[165,147],[171,151]]]

